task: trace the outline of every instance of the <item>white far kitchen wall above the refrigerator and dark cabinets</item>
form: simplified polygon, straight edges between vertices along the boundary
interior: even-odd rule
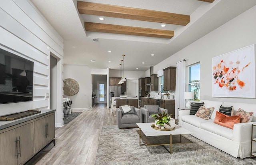
[[[119,70],[109,70],[109,77],[110,78],[119,78],[120,77],[120,71]],[[143,71],[124,71],[124,77],[128,79],[139,79],[144,78],[145,72]]]

